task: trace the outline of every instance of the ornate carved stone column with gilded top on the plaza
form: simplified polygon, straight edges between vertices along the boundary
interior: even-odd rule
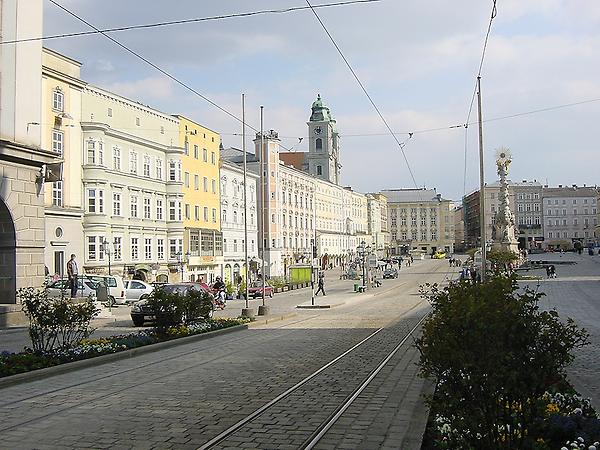
[[[508,192],[508,169],[512,162],[512,155],[507,148],[500,148],[496,151],[496,166],[498,176],[500,177],[500,205],[496,213],[494,223],[495,239],[494,248],[503,251],[518,250],[517,227],[515,218],[510,210],[510,200]]]

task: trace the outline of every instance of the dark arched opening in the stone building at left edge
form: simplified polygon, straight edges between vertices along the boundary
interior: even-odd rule
[[[13,303],[17,288],[15,224],[8,207],[0,199],[0,303]]]

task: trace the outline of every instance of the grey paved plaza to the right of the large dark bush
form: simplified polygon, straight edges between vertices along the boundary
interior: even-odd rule
[[[590,333],[590,344],[575,351],[575,361],[568,370],[569,379],[592,404],[600,410],[600,256],[574,253],[532,255],[531,259],[556,264],[556,279],[543,279],[539,290],[546,294],[541,306],[556,309],[561,317],[571,317]],[[545,277],[545,272],[540,272]],[[537,288],[536,282],[526,283]]]

